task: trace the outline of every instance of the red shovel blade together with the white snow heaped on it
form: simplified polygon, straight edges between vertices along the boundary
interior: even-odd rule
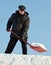
[[[41,43],[32,43],[30,47],[36,50],[37,52],[47,52],[47,49]]]

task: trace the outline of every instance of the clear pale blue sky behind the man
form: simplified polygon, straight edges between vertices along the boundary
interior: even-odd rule
[[[30,17],[28,42],[42,43],[48,50],[38,53],[27,45],[28,54],[51,56],[51,0],[0,0],[0,53],[5,52],[10,39],[6,24],[12,13],[18,10],[19,5],[26,6]],[[12,53],[22,54],[20,41],[17,42]]]

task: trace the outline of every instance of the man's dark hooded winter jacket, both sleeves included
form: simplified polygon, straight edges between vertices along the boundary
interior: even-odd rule
[[[24,15],[20,15],[19,11],[16,11],[9,18],[7,23],[7,29],[10,29],[12,26],[12,31],[20,35],[22,38],[27,38],[29,22],[30,22],[30,19],[27,12],[25,12]],[[15,37],[15,36],[11,33],[10,37]]]

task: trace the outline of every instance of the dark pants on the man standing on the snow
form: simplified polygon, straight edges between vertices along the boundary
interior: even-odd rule
[[[16,39],[16,38],[10,38],[10,41],[8,43],[5,53],[11,53],[13,51],[17,41],[18,41],[18,39]],[[25,41],[27,41],[27,39],[25,39]],[[21,41],[21,45],[22,45],[22,53],[27,54],[27,44],[25,44],[23,41]]]

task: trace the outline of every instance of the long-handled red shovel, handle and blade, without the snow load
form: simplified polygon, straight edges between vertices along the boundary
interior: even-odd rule
[[[28,42],[26,42],[24,39],[22,39],[19,35],[17,35],[15,32],[12,30],[9,30],[12,34],[14,34],[17,38],[19,38],[21,41],[23,41],[25,44],[28,44],[31,49],[37,51],[37,52],[47,52],[47,50],[41,46],[36,46],[36,45],[31,45]]]

